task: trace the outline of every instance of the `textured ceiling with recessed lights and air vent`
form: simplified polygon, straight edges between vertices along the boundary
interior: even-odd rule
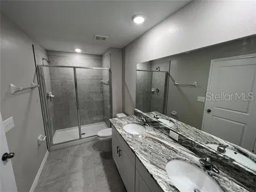
[[[1,12],[46,50],[122,48],[189,1],[1,1]],[[135,25],[134,14],[146,17]],[[105,42],[94,35],[109,36]]]

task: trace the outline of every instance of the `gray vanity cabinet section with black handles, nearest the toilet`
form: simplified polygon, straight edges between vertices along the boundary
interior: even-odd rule
[[[119,133],[118,133],[119,134]],[[116,137],[117,136],[117,137]],[[135,185],[135,156],[134,161],[127,155],[127,145],[118,135],[112,134],[112,153],[117,169],[121,175],[127,192],[134,192]],[[134,155],[134,154],[133,154]]]

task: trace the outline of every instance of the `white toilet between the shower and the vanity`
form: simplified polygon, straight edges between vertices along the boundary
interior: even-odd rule
[[[125,117],[123,113],[116,114],[116,117]],[[97,133],[97,139],[102,142],[102,151],[109,152],[112,149],[112,128],[103,129]]]

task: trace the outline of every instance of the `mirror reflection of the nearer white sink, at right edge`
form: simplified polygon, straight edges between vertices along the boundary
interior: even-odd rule
[[[210,148],[217,150],[219,145],[216,144],[206,144],[207,146],[209,146]],[[226,148],[226,151],[223,153],[224,155],[235,159],[236,162],[241,163],[247,167],[250,167],[250,169],[256,170],[256,163],[253,162],[250,158],[246,157],[245,155],[234,151],[232,149],[229,149],[228,147]]]

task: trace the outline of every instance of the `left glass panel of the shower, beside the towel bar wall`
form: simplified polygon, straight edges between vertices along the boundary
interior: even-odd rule
[[[74,68],[38,66],[38,69],[51,144],[79,139]]]

